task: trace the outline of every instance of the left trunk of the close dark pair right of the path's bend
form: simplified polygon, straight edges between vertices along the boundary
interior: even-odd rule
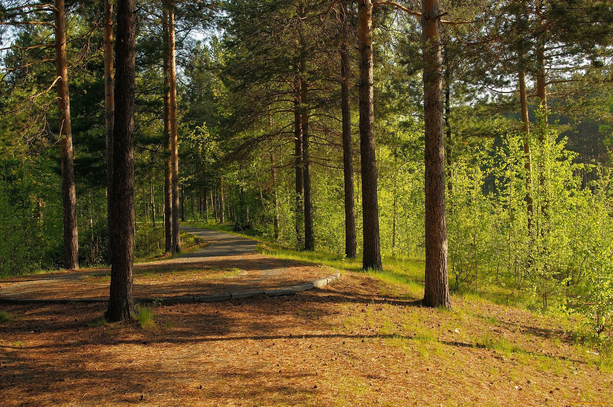
[[[304,197],[304,177],[302,174],[302,114],[300,107],[300,81],[298,76],[294,82],[294,167],[296,180],[296,208],[295,208],[295,230],[296,241],[299,249],[304,247],[303,234],[303,197]]]

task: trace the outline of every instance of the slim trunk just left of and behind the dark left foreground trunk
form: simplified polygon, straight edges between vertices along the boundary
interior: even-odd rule
[[[113,257],[113,5],[104,0],[104,110],[107,146],[107,233],[109,235],[109,264]]]

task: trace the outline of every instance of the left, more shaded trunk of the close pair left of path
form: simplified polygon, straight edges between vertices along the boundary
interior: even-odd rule
[[[164,162],[164,252],[172,252],[172,188],[170,188],[170,57],[168,12],[164,8],[162,17],[162,46],[164,47],[164,140],[166,140],[166,161]]]

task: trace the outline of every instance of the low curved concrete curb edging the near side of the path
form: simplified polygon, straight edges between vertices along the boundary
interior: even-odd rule
[[[153,298],[135,298],[135,302],[154,302],[158,301],[162,304],[178,304],[185,302],[216,302],[216,301],[227,301],[227,300],[238,300],[245,299],[249,297],[256,297],[257,295],[266,295],[267,297],[279,297],[281,295],[294,295],[297,292],[308,291],[314,288],[321,288],[327,286],[332,283],[332,281],[337,281],[340,278],[341,272],[336,272],[333,275],[320,278],[319,280],[311,281],[310,283],[300,284],[298,286],[292,286],[287,288],[276,288],[273,290],[266,291],[242,291],[242,292],[224,292],[221,294],[211,294],[211,295],[202,295],[202,296],[192,296],[192,295],[183,295],[180,297],[161,297],[158,299]],[[109,302],[109,299],[101,299],[101,298],[67,298],[67,299],[12,299],[12,298],[2,298],[0,297],[0,302],[9,302],[9,303],[26,303],[26,304],[34,304],[34,303],[73,303],[73,302]]]

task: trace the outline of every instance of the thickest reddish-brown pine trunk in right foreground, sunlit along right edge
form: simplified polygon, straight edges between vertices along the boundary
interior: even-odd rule
[[[425,117],[424,305],[451,308],[447,277],[443,76],[439,0],[422,1]]]

